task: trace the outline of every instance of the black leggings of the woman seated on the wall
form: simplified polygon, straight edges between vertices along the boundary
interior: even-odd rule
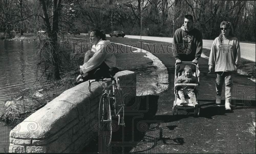
[[[99,77],[104,77],[104,78],[109,78],[109,66],[103,61],[98,67],[96,67],[93,70],[90,70],[87,72],[87,78],[88,80],[95,79],[96,77],[94,76],[94,73],[97,69],[100,69],[100,76],[96,76],[97,78]],[[86,74],[86,73],[85,73]]]

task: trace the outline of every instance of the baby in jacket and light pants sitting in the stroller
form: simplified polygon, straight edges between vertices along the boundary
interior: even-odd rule
[[[192,69],[190,68],[189,65],[186,65],[184,68],[184,71],[182,72],[182,75],[180,75],[177,80],[176,83],[195,83],[195,84],[200,84],[197,81],[197,78],[192,74]],[[193,89],[191,89],[192,87],[186,87],[186,88],[181,88],[178,90],[178,95],[180,98],[180,105],[186,104],[186,103],[194,103],[197,104],[196,102],[196,95],[193,91]],[[189,102],[187,102],[185,100],[185,96],[189,97],[190,100]]]

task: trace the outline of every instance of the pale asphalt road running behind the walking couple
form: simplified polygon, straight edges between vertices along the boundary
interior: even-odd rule
[[[143,39],[143,40],[153,40],[153,41],[163,41],[163,42],[173,42],[173,38],[171,37],[152,37],[152,36],[135,36],[135,35],[125,35],[127,38],[134,39]],[[212,42],[214,40],[203,40],[203,48],[211,49]],[[240,42],[240,51],[241,57],[247,60],[251,60],[255,62],[255,44],[252,43],[241,43]]]

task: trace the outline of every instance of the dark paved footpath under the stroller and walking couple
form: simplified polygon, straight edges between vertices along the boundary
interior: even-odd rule
[[[108,38],[125,44],[123,38]],[[136,43],[131,39],[130,43]],[[146,45],[138,47],[146,49]],[[155,50],[159,49],[159,45]],[[155,54],[166,66],[169,88],[159,95],[136,97],[137,111],[126,112],[126,127],[113,132],[111,152],[138,153],[255,153],[255,83],[234,75],[232,113],[215,105],[215,74],[208,74],[208,60],[200,59],[201,116],[193,109],[179,108],[172,115],[174,101],[174,58],[172,54]],[[143,85],[142,85],[143,86]],[[145,87],[147,88],[147,87]],[[129,106],[128,106],[129,107]],[[134,106],[133,106],[134,107]],[[96,151],[98,150],[95,141]],[[88,148],[91,148],[89,146]],[[95,151],[94,151],[95,152]]]

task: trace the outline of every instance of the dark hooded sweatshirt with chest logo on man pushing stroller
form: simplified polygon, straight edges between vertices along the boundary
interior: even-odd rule
[[[173,56],[181,61],[193,61],[200,58],[202,53],[202,33],[192,26],[185,30],[184,24],[177,29],[173,36]]]

